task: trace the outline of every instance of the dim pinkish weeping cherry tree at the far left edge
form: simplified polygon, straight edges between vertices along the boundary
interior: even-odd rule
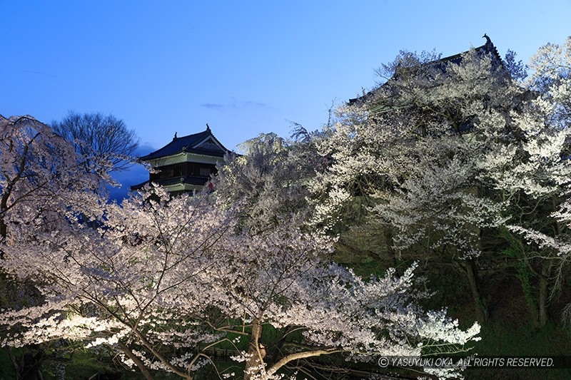
[[[67,205],[85,202],[82,192],[98,187],[82,172],[73,146],[31,116],[0,115],[0,159],[0,236],[6,242],[21,239],[30,224],[51,228]]]

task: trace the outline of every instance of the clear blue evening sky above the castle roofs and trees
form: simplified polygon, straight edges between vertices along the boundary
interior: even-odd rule
[[[290,121],[319,128],[400,50],[448,56],[486,33],[527,61],[571,34],[570,15],[571,0],[0,0],[0,114],[113,113],[142,153],[208,123],[235,149]]]

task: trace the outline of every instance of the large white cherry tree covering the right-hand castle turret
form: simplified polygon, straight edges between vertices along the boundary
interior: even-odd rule
[[[460,64],[432,59],[403,54],[389,81],[340,109],[333,137],[321,144],[333,165],[313,183],[314,192],[328,193],[317,221],[333,227],[360,197],[393,255],[463,257],[483,320],[473,257],[480,231],[501,219],[479,195],[476,163],[491,139],[475,130],[490,119],[499,123],[486,127],[503,128],[505,103],[518,92],[491,54],[472,50]]]

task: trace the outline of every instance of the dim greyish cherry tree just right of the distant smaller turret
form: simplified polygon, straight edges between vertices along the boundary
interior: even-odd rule
[[[287,217],[303,225],[311,212],[305,183],[318,160],[303,143],[275,133],[259,135],[241,145],[243,155],[229,155],[213,178],[215,195],[240,212],[244,227],[262,233]],[[294,220],[290,220],[293,218]]]

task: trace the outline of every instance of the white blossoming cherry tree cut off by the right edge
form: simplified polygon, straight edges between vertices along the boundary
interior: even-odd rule
[[[541,173],[545,184],[535,189],[550,195],[550,207],[542,223],[515,221],[510,230],[524,236],[527,250],[524,259],[539,283],[539,322],[547,322],[547,304],[562,289],[562,279],[569,262],[569,207],[570,126],[571,126],[571,37],[560,46],[548,43],[532,57],[532,76],[528,81],[537,98],[532,101],[533,117],[524,120],[530,138],[532,167],[517,170],[524,173]],[[534,207],[537,208],[537,205]],[[550,215],[549,215],[549,212]],[[535,216],[535,213],[532,214]],[[570,307],[565,309],[567,321]]]

